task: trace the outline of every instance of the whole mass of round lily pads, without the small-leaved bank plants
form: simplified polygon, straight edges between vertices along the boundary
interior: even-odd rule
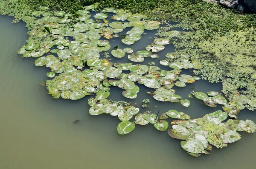
[[[209,107],[224,105],[224,112],[218,110],[198,119],[191,119],[186,113],[176,110],[169,110],[160,116],[150,112],[140,113],[135,105],[108,100],[111,87],[119,87],[123,89],[124,97],[135,99],[140,92],[139,86],[144,85],[154,90],[151,94],[157,101],[180,102],[189,107],[190,101],[175,94],[172,87],[185,87],[199,80],[198,76],[181,74],[181,69],[200,69],[202,65],[197,60],[191,60],[190,56],[173,53],[166,54],[166,58],[160,60],[161,65],[169,66],[168,70],[161,70],[154,64],[140,64],[147,57],[159,58],[156,52],[164,50],[165,45],[170,43],[169,38],[178,36],[179,31],[166,32],[169,38],[154,38],[153,43],[142,51],[133,51],[129,47],[121,49],[119,46],[111,49],[108,39],[119,37],[125,28],[130,30],[120,36],[121,42],[132,45],[142,38],[145,30],[159,28],[160,22],[147,20],[143,14],[114,8],[105,8],[102,13],[91,16],[95,7],[84,7],[76,16],[65,11],[50,12],[41,7],[42,11],[34,11],[32,16],[24,18],[33,29],[28,32],[27,45],[20,48],[18,54],[37,58],[35,66],[46,66],[51,70],[47,77],[53,79],[41,81],[40,84],[46,85],[53,98],[77,100],[96,93],[95,98],[88,99],[90,115],[105,113],[117,116],[122,121],[117,126],[121,135],[133,131],[136,124],[153,124],[157,130],[165,131],[169,127],[167,118],[180,119],[171,122],[173,126],[168,133],[174,138],[186,140],[181,142],[181,146],[194,156],[209,154],[207,150],[211,151],[211,145],[222,148],[227,143],[238,141],[240,135],[237,131],[255,132],[256,125],[250,120],[229,119],[222,122],[228,116],[237,118],[236,115],[244,107],[256,107],[255,97],[238,94],[230,96],[228,102],[218,92],[210,91],[208,95],[194,92],[192,94]],[[116,21],[109,21],[109,12],[114,13],[111,18]],[[110,59],[101,59],[104,52],[115,58],[127,56],[131,62],[112,63]],[[133,117],[134,121],[131,120]]]

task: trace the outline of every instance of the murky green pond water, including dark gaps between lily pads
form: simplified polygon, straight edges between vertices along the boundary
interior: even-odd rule
[[[181,148],[179,140],[171,138],[167,131],[156,130],[153,125],[136,125],[128,135],[119,135],[117,117],[89,115],[88,97],[77,101],[53,99],[46,88],[39,85],[47,79],[49,68],[38,68],[34,65],[35,58],[21,58],[17,54],[28,35],[25,23],[13,24],[12,20],[13,17],[0,15],[0,169],[255,168],[255,133],[239,132],[241,140],[236,143],[223,149],[213,147],[212,155],[195,158]],[[139,41],[142,46],[135,43],[134,51],[145,49],[152,42],[148,37],[153,34],[154,31]],[[118,44],[113,41],[111,46],[115,43]],[[173,50],[169,45],[163,52]],[[159,58],[146,58],[144,62],[152,61],[158,63]],[[180,103],[159,103],[146,94],[148,89],[140,85],[138,98],[129,100],[124,99],[121,89],[114,87],[109,99],[140,105],[143,99],[149,98],[149,107],[141,110],[157,113],[160,109],[160,113],[164,113],[175,109],[192,118],[221,108],[206,107],[198,99],[189,99],[189,108]],[[192,90],[220,92],[221,85],[200,80],[175,90],[186,98]],[[153,109],[152,105],[157,107]],[[242,110],[238,117],[256,121],[255,113],[247,110]],[[80,121],[73,124],[78,119]]]

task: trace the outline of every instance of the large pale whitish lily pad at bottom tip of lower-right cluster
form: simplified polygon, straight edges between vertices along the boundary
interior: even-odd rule
[[[204,151],[204,145],[195,138],[187,138],[186,141],[181,141],[180,145],[187,152],[200,154]]]

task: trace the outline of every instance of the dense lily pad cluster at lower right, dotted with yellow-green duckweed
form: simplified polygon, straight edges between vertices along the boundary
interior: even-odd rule
[[[241,138],[237,131],[255,132],[256,124],[250,120],[233,120],[227,118],[227,113],[218,110],[203,118],[175,121],[168,134],[181,141],[181,147],[190,155],[198,157],[201,153],[209,154],[214,145],[218,148],[227,146]]]

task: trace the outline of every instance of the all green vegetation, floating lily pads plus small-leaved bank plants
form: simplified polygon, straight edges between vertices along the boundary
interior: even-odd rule
[[[90,10],[98,11],[93,19]],[[113,14],[115,22],[109,23],[108,13]],[[89,113],[118,116],[122,121],[117,127],[119,134],[128,134],[135,124],[153,124],[165,131],[169,127],[166,119],[176,118],[179,120],[171,122],[168,134],[186,140],[181,142],[182,148],[200,156],[209,154],[211,145],[222,148],[238,141],[241,136],[237,131],[256,130],[253,121],[237,119],[245,107],[256,109],[255,14],[242,14],[202,0],[0,0],[0,14],[14,16],[13,23],[26,22],[28,44],[18,53],[38,58],[36,66],[51,68],[47,76],[53,79],[40,82],[49,94],[55,99],[77,100],[96,93],[95,98],[88,99]],[[127,53],[133,62],[112,63],[106,58],[111,48],[107,39],[117,37],[125,28],[131,28],[122,38],[126,45],[138,41],[144,30],[157,29],[157,34],[145,51],[133,53],[131,48],[112,47],[111,56],[122,58]],[[177,28],[184,31],[175,31]],[[99,40],[102,37],[105,39]],[[171,71],[161,70],[154,62],[140,65],[146,57],[159,57],[157,52],[169,43],[175,45],[175,52],[167,53],[160,64]],[[100,59],[99,53],[106,57]],[[188,97],[195,96],[209,107],[221,104],[224,112],[218,110],[198,119],[176,110],[157,116],[149,111],[139,113],[138,107],[125,101],[107,99],[110,86],[124,89],[123,96],[135,99],[140,90],[137,84],[142,84],[155,90],[149,94],[158,101],[189,107],[190,101],[175,94],[172,87],[199,80],[180,73],[192,68],[202,79],[221,82],[223,88],[222,93],[192,92]],[[148,102],[143,101],[145,107]],[[130,122],[134,115],[135,121]]]

